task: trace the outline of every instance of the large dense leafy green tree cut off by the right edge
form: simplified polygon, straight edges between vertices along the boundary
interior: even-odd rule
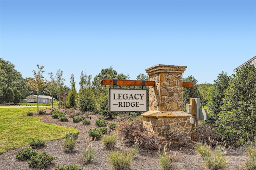
[[[232,75],[218,114],[218,133],[230,145],[243,145],[256,136],[256,68],[247,63]]]

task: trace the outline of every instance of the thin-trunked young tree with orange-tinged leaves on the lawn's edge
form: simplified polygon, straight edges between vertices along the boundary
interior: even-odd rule
[[[34,90],[37,93],[37,98],[39,96],[39,92],[43,90],[44,87],[47,86],[46,80],[44,80],[44,66],[40,66],[37,64],[36,65],[38,68],[38,72],[36,72],[35,70],[33,70],[34,72],[34,78],[30,78],[28,79],[28,86],[30,88],[30,90]],[[38,110],[38,100],[37,100],[37,112]]]

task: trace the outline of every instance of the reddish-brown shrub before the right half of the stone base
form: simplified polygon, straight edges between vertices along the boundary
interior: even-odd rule
[[[164,131],[166,133],[166,139],[170,141],[176,141],[178,144],[184,146],[191,141],[191,130],[185,131],[184,128],[174,127]]]

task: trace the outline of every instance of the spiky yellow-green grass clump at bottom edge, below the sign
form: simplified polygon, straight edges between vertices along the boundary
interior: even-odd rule
[[[131,150],[109,150],[107,153],[108,162],[114,167],[115,170],[128,169],[134,155]]]

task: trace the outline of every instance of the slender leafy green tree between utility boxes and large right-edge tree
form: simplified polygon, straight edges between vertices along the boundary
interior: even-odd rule
[[[214,86],[209,88],[208,91],[208,120],[207,122],[212,124],[219,118],[218,113],[221,111],[223,105],[223,98],[225,92],[230,85],[231,77],[227,73],[220,73],[218,78],[214,80]]]

